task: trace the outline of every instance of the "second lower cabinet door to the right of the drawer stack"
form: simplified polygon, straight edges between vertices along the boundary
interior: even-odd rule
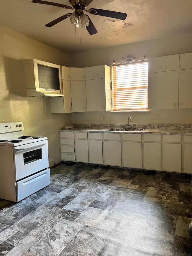
[[[89,140],[89,162],[94,164],[103,164],[101,140]]]

